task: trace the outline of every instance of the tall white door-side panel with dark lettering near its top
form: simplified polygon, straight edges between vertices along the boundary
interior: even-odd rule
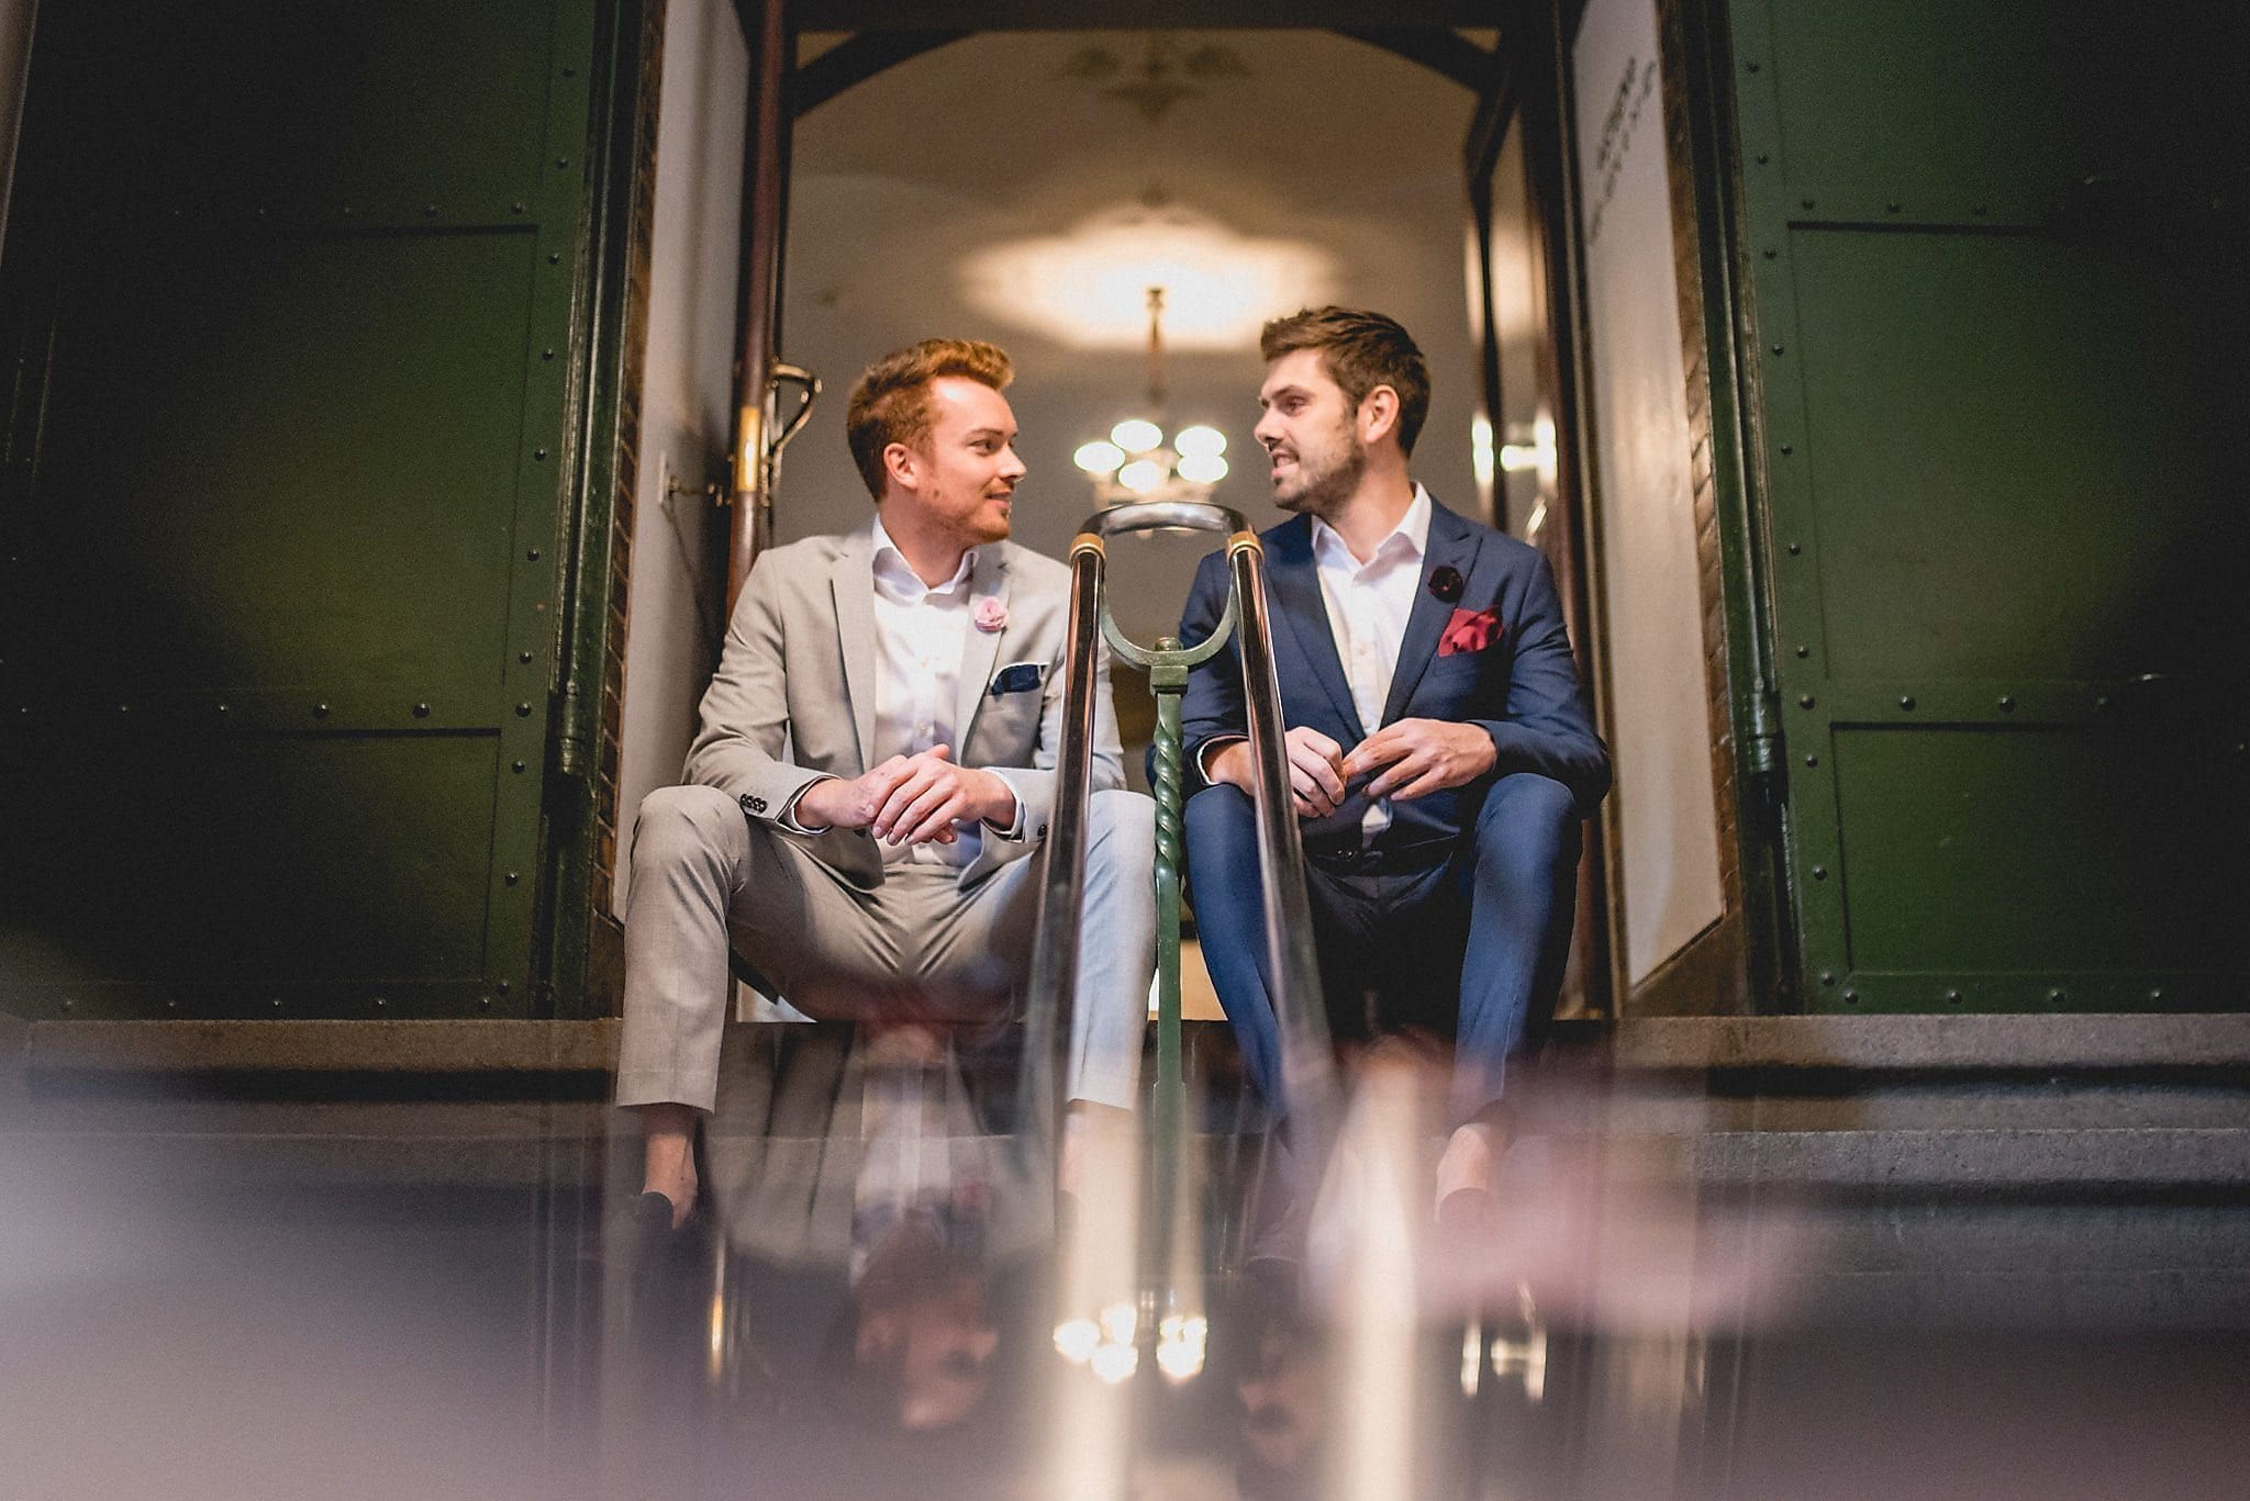
[[[1573,81],[1620,923],[1640,983],[1724,911],[1654,0],[1593,0]]]

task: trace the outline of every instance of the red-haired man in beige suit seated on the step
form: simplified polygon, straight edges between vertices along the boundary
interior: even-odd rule
[[[814,1017],[992,1017],[1030,963],[1055,806],[1069,569],[1008,542],[1024,461],[992,344],[871,365],[846,430],[875,520],[758,558],[686,783],[641,803],[616,1103],[646,1190],[695,1202],[738,945]],[[1071,1100],[1132,1109],[1154,972],[1154,806],[1096,686]]]

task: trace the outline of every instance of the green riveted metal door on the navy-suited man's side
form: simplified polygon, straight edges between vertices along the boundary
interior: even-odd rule
[[[1730,25],[1807,1004],[2246,1004],[2225,7]]]

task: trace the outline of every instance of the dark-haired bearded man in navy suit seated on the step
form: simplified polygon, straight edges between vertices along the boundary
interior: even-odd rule
[[[1328,1022],[1454,1042],[1440,1215],[1490,1204],[1501,1076],[1570,947],[1580,821],[1609,790],[1546,558],[1440,506],[1406,459],[1429,412],[1413,338],[1379,313],[1267,324],[1256,428],[1289,792]],[[1181,621],[1226,610],[1204,558]],[[1204,961],[1269,1112],[1287,1118],[1264,952],[1256,781],[1233,646],[1188,682],[1188,873]]]

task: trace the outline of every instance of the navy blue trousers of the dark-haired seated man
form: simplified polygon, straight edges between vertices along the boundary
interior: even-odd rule
[[[1449,848],[1307,860],[1314,947],[1339,1040],[1422,1028],[1454,1044],[1454,1123],[1501,1098],[1532,1004],[1570,952],[1580,817],[1550,776],[1501,776]],[[1267,1109],[1282,1118],[1280,1031],[1264,947],[1258,824],[1246,792],[1188,799],[1188,880],[1204,963]]]

